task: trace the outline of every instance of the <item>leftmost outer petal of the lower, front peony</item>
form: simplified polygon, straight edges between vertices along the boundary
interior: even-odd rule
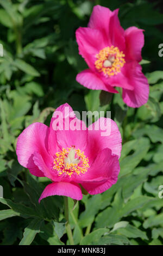
[[[16,145],[16,154],[18,162],[30,170],[35,176],[44,176],[33,161],[34,152],[39,152],[43,160],[50,164],[51,156],[47,152],[47,133],[48,126],[42,123],[34,123],[29,125],[18,136]]]

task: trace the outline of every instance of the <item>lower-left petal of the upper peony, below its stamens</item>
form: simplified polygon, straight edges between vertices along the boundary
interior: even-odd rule
[[[101,78],[99,78],[95,73],[93,73],[90,69],[86,69],[80,72],[76,80],[78,83],[83,86],[93,89],[93,90],[105,90],[110,93],[118,93],[113,87],[105,85]]]

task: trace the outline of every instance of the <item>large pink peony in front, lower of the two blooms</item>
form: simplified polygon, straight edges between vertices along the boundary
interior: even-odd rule
[[[68,111],[64,115],[66,108]],[[63,118],[57,113],[63,114]],[[101,136],[107,120],[110,120],[110,135]],[[78,130],[72,129],[72,124]],[[87,128],[66,103],[56,109],[50,127],[33,123],[21,133],[16,154],[18,162],[30,173],[52,181],[42,192],[39,202],[53,195],[80,200],[82,186],[88,193],[98,194],[116,183],[121,147],[121,134],[114,121],[99,118]]]

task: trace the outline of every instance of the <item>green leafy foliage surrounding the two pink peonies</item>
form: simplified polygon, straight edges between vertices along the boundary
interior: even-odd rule
[[[0,0],[0,199],[1,245],[68,244],[62,197],[38,204],[46,178],[36,178],[17,162],[16,138],[34,121],[49,125],[54,108],[68,102],[76,111],[110,110],[123,137],[118,182],[96,196],[84,196],[70,222],[75,244],[161,245],[163,242],[163,43],[161,1]],[[86,89],[75,80],[86,68],[75,31],[86,27],[92,7],[120,8],[123,28],[145,29],[143,72],[151,84],[139,109],[121,95]],[[121,92],[120,92],[121,93]],[[70,208],[73,202],[69,200]],[[83,235],[86,236],[83,238]]]

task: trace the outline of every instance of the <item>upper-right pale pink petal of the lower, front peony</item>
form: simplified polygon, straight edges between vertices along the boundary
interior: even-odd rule
[[[105,135],[105,136],[104,136]],[[99,118],[88,128],[88,141],[85,154],[90,164],[95,160],[99,151],[109,148],[112,154],[120,158],[122,149],[121,133],[115,121],[110,118]]]

